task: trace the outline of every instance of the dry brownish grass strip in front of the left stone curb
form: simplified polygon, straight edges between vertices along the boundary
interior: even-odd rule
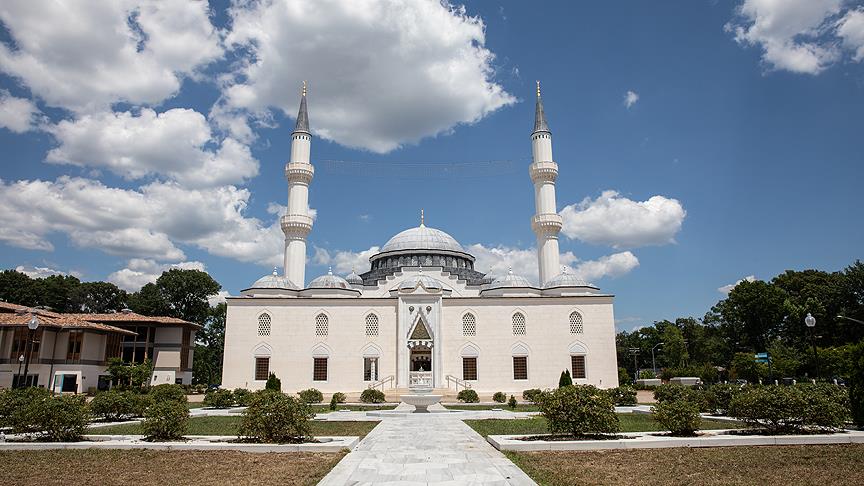
[[[234,451],[47,450],[0,452],[0,484],[312,485],[345,455]]]

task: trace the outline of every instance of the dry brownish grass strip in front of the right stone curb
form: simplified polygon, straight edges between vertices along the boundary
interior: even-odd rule
[[[864,484],[864,445],[505,452],[541,485]]]

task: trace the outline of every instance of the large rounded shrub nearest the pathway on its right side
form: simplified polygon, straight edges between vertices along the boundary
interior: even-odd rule
[[[571,385],[545,391],[537,399],[553,434],[618,432],[618,415],[608,393],[593,385]]]

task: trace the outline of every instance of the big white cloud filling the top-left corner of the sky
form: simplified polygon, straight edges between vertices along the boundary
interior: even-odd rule
[[[223,53],[203,1],[10,0],[0,21],[0,70],[75,111],[159,103]]]

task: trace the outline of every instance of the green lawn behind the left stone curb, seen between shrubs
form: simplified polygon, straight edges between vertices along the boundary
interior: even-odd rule
[[[189,419],[186,435],[237,435],[241,417],[194,417]],[[312,421],[312,435],[359,435],[365,437],[378,422],[323,422]],[[90,434],[99,435],[141,435],[140,424],[112,425],[90,429]]]

